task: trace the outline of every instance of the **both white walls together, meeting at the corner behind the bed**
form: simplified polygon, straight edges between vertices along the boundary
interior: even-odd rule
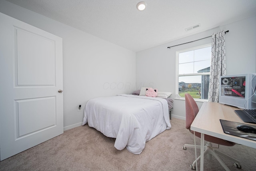
[[[227,74],[256,72],[256,16],[135,53],[5,0],[0,0],[0,12],[63,38],[65,129],[81,125],[83,112],[78,112],[77,106],[82,104],[84,109],[94,97],[131,93],[150,86],[173,92],[174,99],[175,52],[211,43],[211,38],[167,47],[208,37],[219,30],[230,30],[226,34]],[[184,106],[183,100],[174,99],[172,117],[185,119]]]

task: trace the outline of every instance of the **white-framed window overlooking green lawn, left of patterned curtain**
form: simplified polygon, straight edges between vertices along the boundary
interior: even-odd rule
[[[208,99],[211,50],[207,44],[176,52],[176,94],[181,99],[185,93],[194,99]]]

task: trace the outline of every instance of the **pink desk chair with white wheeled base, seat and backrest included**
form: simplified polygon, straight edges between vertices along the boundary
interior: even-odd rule
[[[196,117],[199,111],[198,105],[196,104],[196,101],[193,99],[193,97],[190,94],[185,94],[185,104],[186,104],[186,129],[188,129],[192,134],[194,134],[194,131],[190,130],[190,125],[194,121],[194,118]],[[201,137],[201,133],[195,132],[195,135],[197,137]],[[238,160],[216,150],[216,148],[219,148],[219,145],[233,146],[235,145],[235,143],[226,141],[224,139],[212,137],[210,135],[204,135],[204,140],[208,141],[204,146],[204,156],[208,154],[208,159],[211,159],[213,155],[220,162],[220,164],[222,165],[222,167],[224,167],[226,171],[229,171],[229,169],[223,163],[223,161],[220,159],[218,155],[221,155],[223,157],[226,157],[234,161],[234,165],[237,168],[241,168],[240,162]],[[218,144],[218,147],[212,147],[212,143]],[[195,147],[195,145],[185,144],[182,148],[186,149],[186,147]],[[196,145],[196,148],[200,149],[200,145]],[[200,160],[200,156],[193,162],[192,165],[190,165],[190,168],[196,169],[195,164],[196,164],[196,161],[198,162],[199,160]]]

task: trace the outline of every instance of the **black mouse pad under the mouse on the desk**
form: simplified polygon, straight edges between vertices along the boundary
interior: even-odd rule
[[[247,132],[239,131],[236,128],[238,125],[248,125],[248,126],[251,126],[256,129],[256,125],[249,125],[249,124],[245,124],[245,123],[226,121],[226,120],[222,120],[222,119],[220,119],[220,123],[221,123],[224,133],[229,134],[229,135],[234,135],[237,137],[246,138],[246,139],[252,139],[252,140],[256,141],[256,133],[247,133]]]

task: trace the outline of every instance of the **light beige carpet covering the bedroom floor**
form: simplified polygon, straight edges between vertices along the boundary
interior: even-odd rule
[[[185,128],[185,121],[172,118],[172,128],[152,140],[140,155],[114,147],[114,138],[88,125],[64,131],[53,139],[36,145],[0,162],[1,171],[190,171],[195,159],[194,135]],[[196,138],[197,144],[200,139]],[[256,149],[244,145],[220,146],[220,151],[240,160],[242,169],[222,158],[231,171],[254,171]],[[197,151],[199,156],[200,150]],[[207,158],[207,157],[206,157]],[[200,164],[200,162],[198,163]],[[198,165],[198,170],[200,166]],[[204,170],[222,171],[223,167],[212,157],[205,159]]]

